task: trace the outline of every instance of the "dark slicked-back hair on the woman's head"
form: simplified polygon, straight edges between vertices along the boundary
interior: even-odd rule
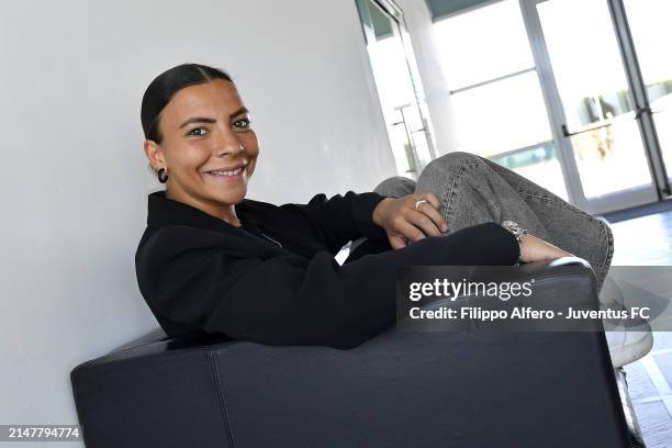
[[[225,79],[233,82],[231,76],[219,68],[201,64],[182,64],[172,67],[149,83],[141,108],[141,121],[146,139],[161,143],[163,135],[158,130],[159,114],[175,94],[189,86],[205,83],[212,79]]]

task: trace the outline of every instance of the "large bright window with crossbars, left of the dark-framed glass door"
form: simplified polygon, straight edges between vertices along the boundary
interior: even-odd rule
[[[440,19],[434,32],[459,150],[488,157],[567,199],[518,2]]]

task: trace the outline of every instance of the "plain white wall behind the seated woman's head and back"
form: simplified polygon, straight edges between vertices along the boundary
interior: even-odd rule
[[[0,42],[0,424],[75,424],[70,370],[157,325],[133,257],[160,188],[141,99],[163,70],[235,78],[261,144],[249,198],[395,175],[355,1],[4,2]]]

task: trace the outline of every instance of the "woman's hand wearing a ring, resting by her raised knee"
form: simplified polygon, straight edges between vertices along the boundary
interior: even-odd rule
[[[424,200],[415,208],[417,201]],[[393,249],[405,247],[408,240],[440,236],[448,223],[439,212],[439,201],[433,192],[419,192],[402,198],[385,198],[373,210],[373,223],[385,229]]]

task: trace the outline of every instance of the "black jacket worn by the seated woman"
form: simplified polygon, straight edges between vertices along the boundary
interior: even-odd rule
[[[135,254],[139,290],[169,336],[351,348],[394,324],[399,267],[517,260],[515,237],[495,223],[393,250],[372,222],[384,198],[348,191],[280,206],[244,199],[236,227],[150,193]],[[334,255],[361,236],[367,242],[339,266]]]

